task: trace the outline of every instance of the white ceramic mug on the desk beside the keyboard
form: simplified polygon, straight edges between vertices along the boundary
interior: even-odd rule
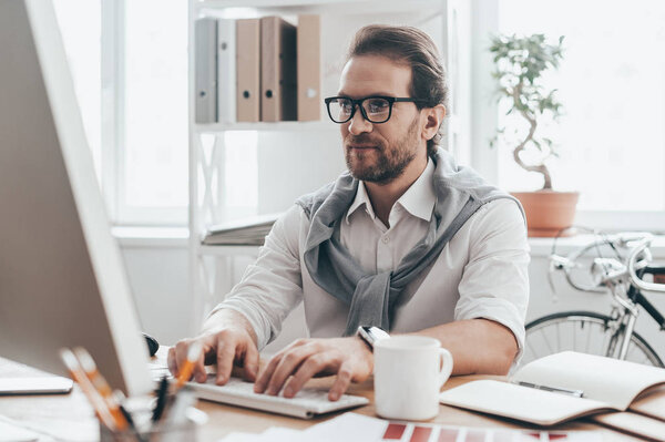
[[[426,420],[439,413],[439,391],[452,372],[452,354],[423,336],[377,341],[375,404],[386,419]]]

